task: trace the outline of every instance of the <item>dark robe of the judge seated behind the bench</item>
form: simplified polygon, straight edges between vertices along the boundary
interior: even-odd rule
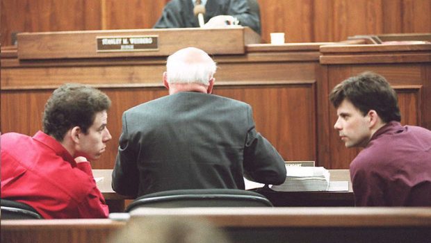
[[[193,14],[193,8],[190,0],[172,0],[166,4],[160,19],[153,28],[199,27],[197,17]],[[239,20],[241,26],[249,26],[257,33],[261,33],[259,15],[250,11],[247,0],[208,0],[205,9],[205,23],[217,15],[231,15]]]

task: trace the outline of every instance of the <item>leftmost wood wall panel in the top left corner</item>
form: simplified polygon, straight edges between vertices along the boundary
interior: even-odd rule
[[[100,29],[100,10],[100,1],[1,0],[1,45],[12,33]]]

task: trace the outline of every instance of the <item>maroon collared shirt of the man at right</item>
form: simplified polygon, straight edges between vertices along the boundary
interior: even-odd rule
[[[391,121],[350,164],[356,206],[431,206],[431,131]]]

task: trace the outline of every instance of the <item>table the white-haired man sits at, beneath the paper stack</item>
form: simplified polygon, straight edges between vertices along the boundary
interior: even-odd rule
[[[124,200],[133,199],[122,196],[112,190],[112,169],[93,169],[95,178],[103,177],[97,187],[104,195],[111,212],[122,212]],[[331,181],[348,181],[348,192],[275,192],[268,188],[255,191],[265,195],[277,207],[285,206],[354,206],[352,183],[348,169],[330,169]]]

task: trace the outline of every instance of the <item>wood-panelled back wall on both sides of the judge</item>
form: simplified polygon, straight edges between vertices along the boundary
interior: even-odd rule
[[[169,0],[1,0],[2,46],[11,33],[152,28]],[[430,0],[258,0],[263,42],[332,42],[352,35],[430,33]]]

